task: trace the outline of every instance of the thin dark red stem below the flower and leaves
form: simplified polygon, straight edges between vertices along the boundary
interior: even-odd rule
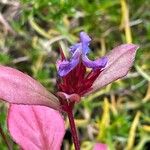
[[[69,122],[70,122],[71,134],[72,134],[75,150],[80,150],[79,138],[77,136],[77,131],[76,131],[76,126],[75,126],[75,122],[74,122],[72,109],[67,111],[67,114],[68,114],[68,118],[69,118]]]

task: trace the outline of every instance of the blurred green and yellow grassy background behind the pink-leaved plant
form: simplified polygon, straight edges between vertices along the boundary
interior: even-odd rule
[[[61,47],[92,37],[90,57],[105,55],[122,43],[140,46],[134,66],[122,80],[83,98],[75,121],[81,149],[95,142],[110,150],[150,150],[150,1],[149,0],[0,0],[0,64],[17,68],[55,92]],[[7,105],[0,102],[0,126],[7,131]],[[73,149],[67,132],[62,149]],[[7,146],[0,136],[0,150]]]

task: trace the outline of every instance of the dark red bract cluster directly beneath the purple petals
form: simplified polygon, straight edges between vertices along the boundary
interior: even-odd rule
[[[99,76],[101,70],[91,70],[87,73],[86,67],[82,62],[80,62],[72,71],[70,71],[66,76],[59,77],[57,85],[58,91],[73,94],[76,93],[83,96],[87,93]]]

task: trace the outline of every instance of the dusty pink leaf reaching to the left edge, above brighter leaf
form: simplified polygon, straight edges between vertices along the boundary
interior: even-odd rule
[[[0,99],[15,104],[35,104],[59,109],[56,96],[30,76],[10,67],[0,66]]]

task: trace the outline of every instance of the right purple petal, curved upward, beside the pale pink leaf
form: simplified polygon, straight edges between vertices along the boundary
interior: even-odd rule
[[[88,59],[87,56],[82,57],[83,64],[92,69],[101,69],[104,68],[107,64],[107,57],[102,57],[100,59],[97,59],[95,61],[91,61]]]

